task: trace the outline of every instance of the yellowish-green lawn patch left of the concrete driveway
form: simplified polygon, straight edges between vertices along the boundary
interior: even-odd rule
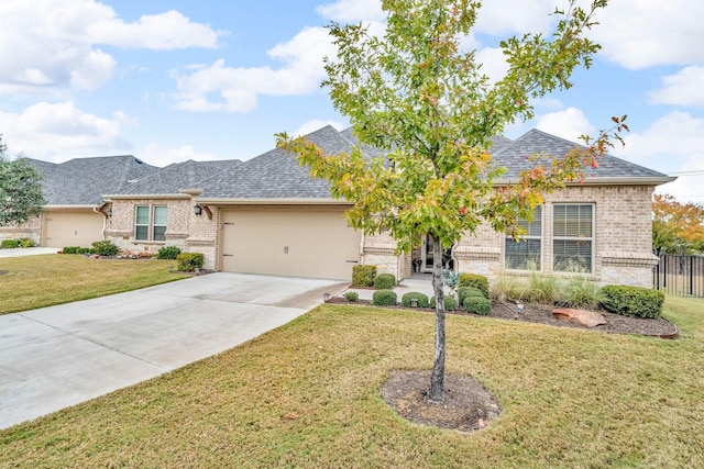
[[[45,255],[0,259],[0,314],[34,310],[136,290],[187,276],[170,273],[174,260],[92,259]]]

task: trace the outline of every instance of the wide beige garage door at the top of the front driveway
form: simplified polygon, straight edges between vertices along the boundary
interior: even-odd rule
[[[341,209],[221,212],[222,270],[350,280],[360,235]]]

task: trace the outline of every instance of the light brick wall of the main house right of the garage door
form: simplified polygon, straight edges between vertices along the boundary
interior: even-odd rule
[[[651,186],[575,186],[546,198],[542,210],[541,271],[553,271],[552,219],[556,203],[592,204],[594,208],[593,271],[590,277],[601,283],[652,286]],[[408,261],[394,256],[395,243],[388,236],[366,237],[365,264],[376,264],[380,271],[410,276]],[[505,235],[488,224],[464,236],[452,249],[455,270],[492,278],[506,272]],[[396,264],[395,264],[396,263]],[[527,276],[528,271],[510,270]]]

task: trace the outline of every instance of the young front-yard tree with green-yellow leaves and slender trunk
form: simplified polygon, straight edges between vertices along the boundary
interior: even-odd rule
[[[481,223],[521,234],[517,217],[530,219],[542,193],[582,178],[584,165],[610,145],[603,132],[569,155],[536,155],[532,169],[513,186],[495,188],[505,172],[492,163],[492,137],[507,124],[534,116],[531,102],[572,86],[578,66],[588,67],[598,45],[584,37],[596,0],[586,10],[569,0],[556,10],[553,33],[526,34],[501,43],[508,71],[492,82],[474,51],[461,46],[475,23],[479,1],[383,0],[386,32],[372,34],[362,24],[331,24],[337,58],[326,59],[324,87],[337,110],[346,115],[360,142],[388,148],[386,158],[367,159],[360,148],[349,155],[324,155],[305,138],[278,135],[278,145],[298,154],[314,177],[331,182],[332,196],[353,205],[352,226],[366,234],[387,231],[398,252],[433,243],[436,357],[430,399],[444,392],[444,297],[442,252]],[[616,135],[617,136],[617,135]]]

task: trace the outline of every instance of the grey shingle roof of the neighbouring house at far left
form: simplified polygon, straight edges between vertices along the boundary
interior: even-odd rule
[[[98,205],[102,194],[118,193],[127,181],[160,169],[132,155],[76,158],[62,164],[30,161],[44,176],[48,205]]]

